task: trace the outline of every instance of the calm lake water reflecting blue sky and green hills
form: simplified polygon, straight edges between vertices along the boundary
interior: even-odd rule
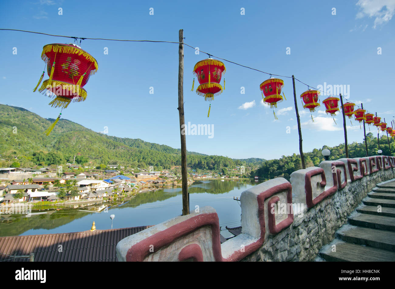
[[[195,206],[215,208],[224,237],[231,236],[225,226],[240,225],[240,202],[233,197],[255,186],[250,180],[210,180],[195,182],[188,188],[190,210]],[[107,205],[107,203],[104,203]],[[84,208],[62,208],[61,210],[34,210],[40,214],[25,218],[24,215],[0,215],[0,236],[36,235],[87,231],[95,221],[96,229],[111,229],[110,215],[114,214],[113,229],[156,225],[182,214],[181,188],[162,189],[140,193],[132,199],[108,204],[108,212],[95,212],[103,204],[92,204]],[[41,214],[45,213],[45,214]]]

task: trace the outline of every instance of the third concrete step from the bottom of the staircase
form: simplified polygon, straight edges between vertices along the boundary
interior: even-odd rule
[[[395,231],[395,218],[393,217],[356,213],[348,218],[348,222],[354,226]]]

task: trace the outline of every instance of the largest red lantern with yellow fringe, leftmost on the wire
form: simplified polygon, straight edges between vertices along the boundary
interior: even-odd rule
[[[72,43],[53,43],[43,47],[41,59],[47,64],[49,79],[43,81],[38,91],[53,98],[49,105],[64,109],[71,101],[84,101],[87,98],[87,91],[83,86],[87,84],[90,75],[98,70],[98,63],[92,55]],[[43,71],[33,91],[37,90],[44,74]],[[45,131],[47,135],[60,119],[60,114]]]

